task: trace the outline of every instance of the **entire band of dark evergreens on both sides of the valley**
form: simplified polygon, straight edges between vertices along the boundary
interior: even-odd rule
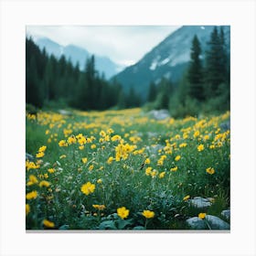
[[[117,80],[105,80],[95,69],[93,55],[80,70],[79,63],[74,67],[64,56],[48,56],[31,37],[26,38],[26,102],[38,108],[55,103],[87,111],[144,103],[147,109],[169,109],[174,117],[223,112],[229,110],[229,84],[229,49],[222,27],[214,27],[205,52],[195,35],[190,61],[178,84],[164,77],[151,82],[146,102],[133,87],[125,92]]]

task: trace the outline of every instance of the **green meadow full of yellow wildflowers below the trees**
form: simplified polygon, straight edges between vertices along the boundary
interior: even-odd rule
[[[229,112],[156,121],[141,109],[27,113],[27,229],[187,229],[229,208]],[[148,210],[148,211],[146,211]]]

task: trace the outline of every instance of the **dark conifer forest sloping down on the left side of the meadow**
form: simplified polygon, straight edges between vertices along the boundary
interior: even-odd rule
[[[107,81],[95,69],[95,59],[86,60],[84,70],[70,59],[48,56],[31,37],[26,38],[26,102],[37,108],[48,105],[80,110],[130,108],[141,104],[133,88],[124,93],[116,80]]]

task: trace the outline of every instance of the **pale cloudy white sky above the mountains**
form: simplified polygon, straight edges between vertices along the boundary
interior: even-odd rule
[[[28,26],[27,35],[48,37],[62,46],[86,48],[116,63],[131,65],[142,59],[180,26]]]

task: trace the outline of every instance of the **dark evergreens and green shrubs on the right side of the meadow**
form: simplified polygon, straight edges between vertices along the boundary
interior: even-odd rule
[[[223,27],[214,27],[206,52],[202,52],[201,43],[197,35],[194,36],[190,61],[178,84],[166,79],[156,84],[151,82],[147,105],[169,108],[173,116],[182,117],[198,112],[227,111],[229,97],[229,49]]]

